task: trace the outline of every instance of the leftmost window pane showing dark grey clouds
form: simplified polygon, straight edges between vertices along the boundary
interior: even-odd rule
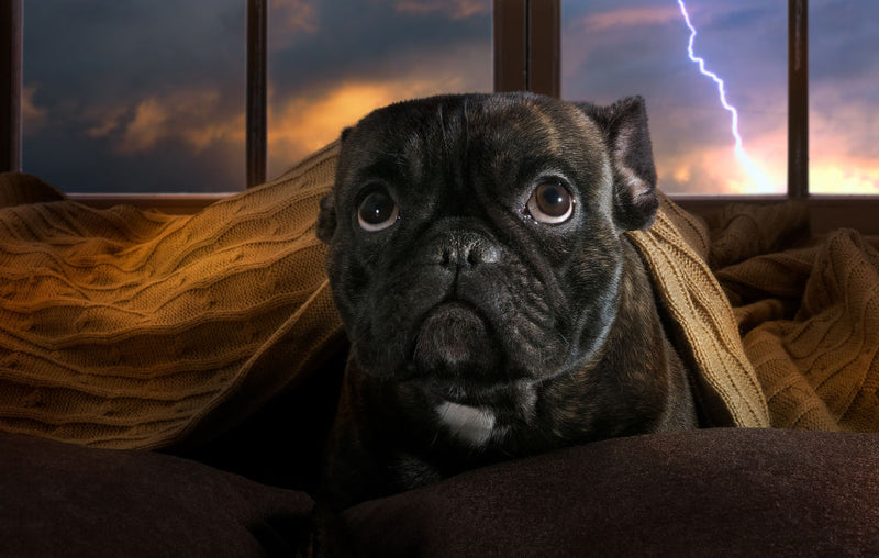
[[[244,185],[242,0],[25,0],[23,167],[69,192]]]

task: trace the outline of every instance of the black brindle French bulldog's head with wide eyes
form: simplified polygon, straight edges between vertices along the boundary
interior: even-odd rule
[[[447,394],[596,358],[656,172],[641,98],[391,104],[342,137],[320,238],[365,373]]]

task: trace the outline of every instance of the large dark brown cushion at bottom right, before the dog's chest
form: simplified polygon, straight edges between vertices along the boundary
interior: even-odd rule
[[[705,429],[470,471],[346,512],[371,556],[877,556],[879,435]]]

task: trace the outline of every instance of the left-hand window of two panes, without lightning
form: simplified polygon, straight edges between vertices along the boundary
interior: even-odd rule
[[[25,170],[68,192],[244,187],[247,2],[23,3]],[[380,105],[491,90],[490,0],[259,3],[268,177]]]

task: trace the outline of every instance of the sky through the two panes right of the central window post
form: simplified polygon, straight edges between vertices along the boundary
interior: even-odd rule
[[[693,29],[669,11],[678,5],[563,0],[563,97],[610,102],[644,96],[659,185],[668,192],[783,193],[787,4],[686,2],[699,32],[698,57],[724,80],[726,110],[719,83],[688,59]],[[813,193],[879,193],[879,57],[868,54],[879,41],[865,23],[878,12],[872,3],[810,2]],[[733,105],[738,111],[731,135]],[[734,140],[736,126],[741,141]]]

